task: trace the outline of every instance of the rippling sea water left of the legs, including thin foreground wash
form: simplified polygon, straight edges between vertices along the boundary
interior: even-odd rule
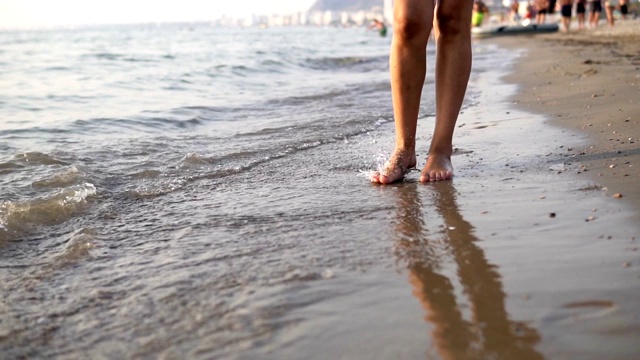
[[[341,295],[291,288],[393,269],[393,204],[360,175],[392,144],[390,42],[207,24],[0,33],[2,353],[264,355],[302,322],[293,310]]]

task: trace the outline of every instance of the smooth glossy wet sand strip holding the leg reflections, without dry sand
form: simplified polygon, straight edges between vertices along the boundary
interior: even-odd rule
[[[505,78],[523,57],[493,45],[477,51],[482,66],[456,129],[456,176],[421,184],[416,170],[392,185],[345,181],[356,206],[377,207],[362,219],[361,249],[389,246],[392,259],[283,290],[292,299],[336,295],[293,308],[290,317],[304,321],[275,335],[273,358],[626,360],[640,350],[636,223],[620,216],[624,203],[584,191],[592,181],[549,170],[571,156],[557,144],[577,149],[585,139],[563,139],[543,115],[514,106],[518,86]],[[433,120],[420,120],[418,144],[428,143]],[[372,138],[384,154],[391,125]],[[357,157],[371,143],[336,146],[320,158]]]

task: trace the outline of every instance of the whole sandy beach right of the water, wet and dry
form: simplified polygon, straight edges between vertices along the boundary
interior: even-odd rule
[[[391,205],[369,233],[391,242],[396,273],[289,292],[338,295],[292,311],[273,358],[637,358],[638,52],[608,34],[488,40],[523,56],[472,76],[454,179],[416,171],[365,197]]]

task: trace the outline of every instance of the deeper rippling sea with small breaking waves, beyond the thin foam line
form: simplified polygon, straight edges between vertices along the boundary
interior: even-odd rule
[[[0,43],[0,241],[228,185],[390,120],[389,40],[363,30],[121,26]]]

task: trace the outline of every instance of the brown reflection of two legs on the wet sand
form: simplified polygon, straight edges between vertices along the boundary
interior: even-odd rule
[[[444,358],[541,359],[533,349],[537,332],[509,320],[500,276],[474,244],[478,239],[458,211],[453,184],[440,183],[430,189],[435,193],[426,207],[416,184],[396,189],[396,238],[399,256],[408,263],[414,295],[435,326],[438,351]],[[458,267],[458,279],[473,311],[469,321],[462,317],[451,281],[435,271],[439,259],[434,245],[429,244],[422,208],[435,208],[445,223],[446,245],[440,250],[451,254]]]

